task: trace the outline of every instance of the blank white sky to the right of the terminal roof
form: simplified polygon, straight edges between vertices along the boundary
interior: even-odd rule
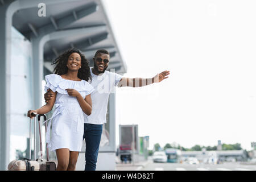
[[[256,141],[256,2],[106,0],[125,77],[159,84],[117,88],[118,125],[163,147]],[[117,144],[118,144],[117,133]]]

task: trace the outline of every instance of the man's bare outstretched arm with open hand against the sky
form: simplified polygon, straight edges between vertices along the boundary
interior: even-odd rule
[[[131,87],[141,87],[146,86],[150,84],[154,84],[156,82],[161,82],[164,79],[168,78],[168,75],[170,75],[170,71],[164,71],[162,73],[157,74],[156,76],[152,78],[125,78],[123,77],[119,83],[118,87],[121,86],[131,86]]]

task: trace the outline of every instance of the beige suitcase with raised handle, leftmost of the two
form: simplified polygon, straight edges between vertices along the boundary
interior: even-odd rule
[[[36,150],[36,117],[34,123],[34,160],[31,160],[31,123],[32,119],[30,118],[30,159],[22,159],[22,160],[13,160],[8,165],[9,171],[39,171],[39,163],[35,160]]]

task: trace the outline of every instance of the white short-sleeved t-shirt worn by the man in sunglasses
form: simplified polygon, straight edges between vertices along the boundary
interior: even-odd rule
[[[103,74],[94,75],[90,68],[94,91],[90,94],[92,98],[92,114],[89,116],[84,113],[84,123],[101,125],[106,123],[106,112],[108,109],[109,94],[117,86],[122,76],[117,73],[105,71]]]

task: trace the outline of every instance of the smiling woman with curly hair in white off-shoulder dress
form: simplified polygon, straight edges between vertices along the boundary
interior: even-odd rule
[[[79,49],[65,51],[53,64],[55,74],[46,76],[44,88],[46,92],[51,92],[52,99],[40,109],[29,110],[27,116],[34,118],[34,114],[46,114],[55,104],[55,111],[48,124],[46,142],[51,151],[56,151],[57,170],[75,170],[82,147],[84,113],[90,115],[92,112],[90,93],[94,89],[87,82],[92,76],[88,60]]]

